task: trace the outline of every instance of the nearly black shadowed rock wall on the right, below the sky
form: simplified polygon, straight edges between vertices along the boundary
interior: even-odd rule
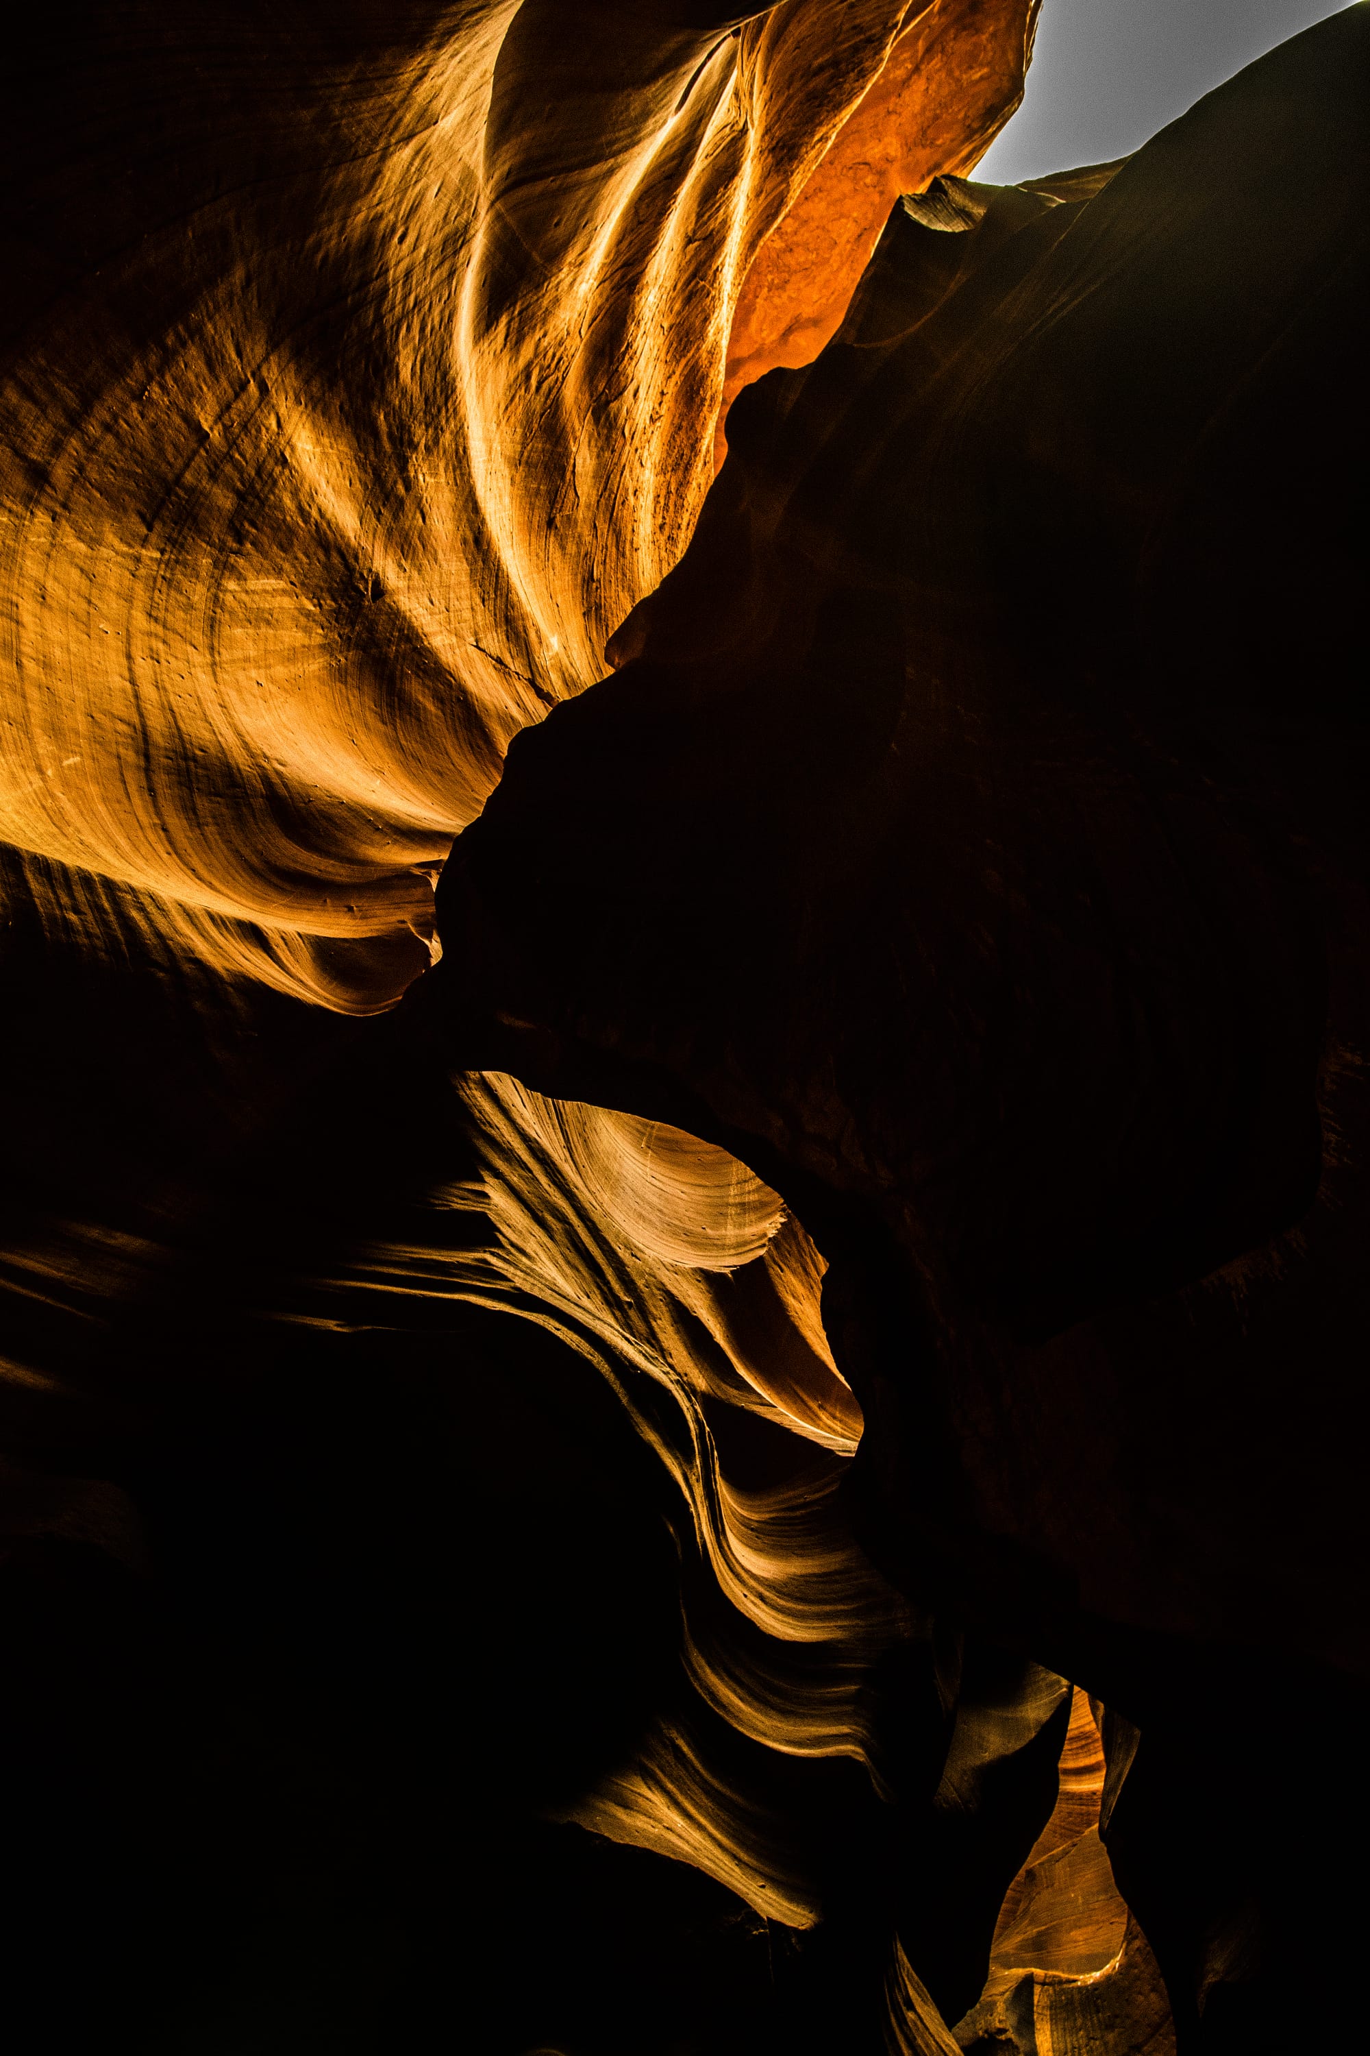
[[[1349,10],[1111,177],[896,208],[440,886],[458,1038],[832,1258],[896,1583],[1144,1735],[1171,1665],[1267,1735],[1273,1647],[1366,1672],[1368,93]],[[1294,2035],[1214,2025],[1286,1859],[1163,1914],[1113,1832],[1210,2035]]]

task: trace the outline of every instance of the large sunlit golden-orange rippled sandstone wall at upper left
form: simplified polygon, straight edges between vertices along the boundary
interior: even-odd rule
[[[690,535],[735,310],[733,378],[811,356],[900,185],[1017,105],[1029,16],[548,0],[39,37],[0,833],[53,919],[117,905],[224,972],[390,1003],[509,736],[602,674]]]

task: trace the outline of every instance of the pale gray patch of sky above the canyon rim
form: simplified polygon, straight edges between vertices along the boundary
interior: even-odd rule
[[[1027,95],[974,179],[1124,156],[1345,0],[1043,0]],[[1370,119],[1370,113],[1368,113]]]

